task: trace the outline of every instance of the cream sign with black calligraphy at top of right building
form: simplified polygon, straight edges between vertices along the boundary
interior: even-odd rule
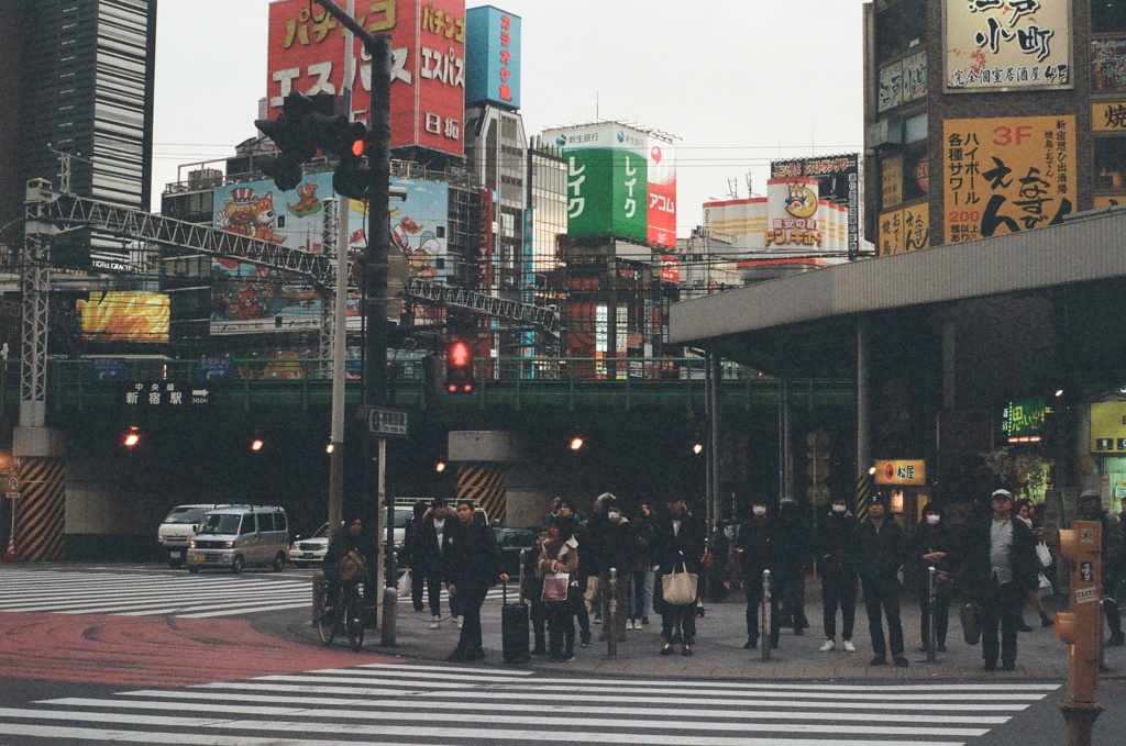
[[[948,91],[1071,88],[1071,0],[942,3]]]

